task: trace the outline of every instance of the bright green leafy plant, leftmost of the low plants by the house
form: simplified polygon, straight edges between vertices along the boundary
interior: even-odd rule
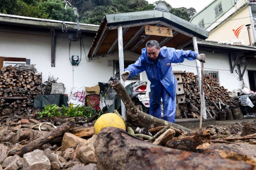
[[[42,112],[37,112],[38,118],[44,116],[53,117],[53,116],[62,116],[62,113],[59,111],[59,107],[56,104],[50,104],[45,106]]]

